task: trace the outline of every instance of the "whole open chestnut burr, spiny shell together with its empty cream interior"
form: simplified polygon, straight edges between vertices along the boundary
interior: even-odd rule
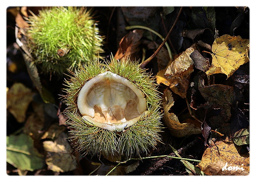
[[[161,98],[153,77],[147,73],[145,69],[141,69],[138,62],[131,62],[130,60],[119,61],[112,57],[111,61],[107,61],[106,64],[102,64],[99,61],[88,62],[87,65],[84,65],[72,74],[73,76],[71,76],[70,80],[66,81],[67,88],[65,89],[66,95],[64,98],[67,101],[68,108],[64,113],[68,116],[67,125],[70,126],[70,138],[75,141],[76,149],[79,150],[81,154],[89,154],[98,157],[103,156],[108,159],[114,157],[121,160],[134,156],[145,156],[149,153],[150,149],[156,146],[157,142],[160,141],[159,132],[161,131],[160,120],[162,117],[160,111]],[[100,79],[105,79],[105,81],[103,82]],[[129,83],[124,83],[124,79],[125,82]],[[90,82],[94,82],[94,84],[90,84]],[[108,82],[112,85],[110,92],[108,92]],[[113,82],[113,84],[111,82]],[[126,84],[127,87],[123,87],[121,85],[122,83]],[[103,84],[102,87],[100,86],[101,84]],[[86,88],[86,85],[90,88]],[[114,87],[113,85],[119,86]],[[103,90],[100,90],[101,88]],[[113,88],[115,89],[113,90]],[[122,94],[122,88],[126,88],[124,94]],[[130,88],[133,90],[131,89],[131,91]],[[81,94],[80,92],[82,92],[83,89],[88,90],[88,94],[93,93],[87,95],[88,98],[84,96],[84,98],[79,98],[79,94]],[[136,92],[136,94],[133,94],[133,91],[134,93]],[[103,94],[110,94],[110,96],[104,97],[102,96]],[[140,94],[143,95],[143,98],[140,98]],[[96,97],[93,97],[93,95],[96,95]],[[125,100],[126,96],[126,101],[121,101]],[[100,99],[98,98],[100,97],[103,98],[102,102],[105,105],[99,103]],[[107,101],[107,98],[112,101]],[[129,101],[129,99],[132,98],[134,98],[133,101]],[[95,109],[94,118],[84,116],[86,115],[83,113],[84,111],[82,112],[83,114],[81,114],[80,111],[84,108],[79,107],[79,105],[81,105],[79,104],[79,99],[82,101],[87,100],[85,103],[89,105],[90,103],[98,103],[97,107],[93,107],[94,104],[92,104],[92,107],[84,106],[88,108],[86,111],[92,108]],[[97,99],[99,101],[95,101]],[[145,108],[143,108],[143,99],[146,101]],[[136,100],[137,104],[134,100]],[[120,105],[127,102],[127,105],[126,107],[113,106],[115,104],[112,102],[120,103]],[[130,106],[131,103],[134,104],[133,108]],[[98,106],[101,107],[100,112],[96,111]],[[100,119],[106,119],[106,115],[109,116],[112,113],[116,116],[112,118],[112,120],[117,120],[117,115],[120,116],[120,114],[117,113],[117,111],[119,111],[118,109],[113,109],[115,111],[111,110],[111,113],[108,113],[110,110],[105,109],[105,112],[105,107],[109,107],[110,110],[111,108],[125,108],[123,112],[124,115],[122,115],[121,111],[120,114],[123,116],[121,117],[122,122],[128,124],[123,125],[120,121],[121,119],[118,119],[118,122],[120,122],[119,127],[115,127],[117,125],[116,123],[96,126],[94,123],[99,121],[96,119],[97,112],[101,113],[98,117]],[[142,111],[139,112],[141,108]],[[132,124],[130,123],[131,120],[133,120]]]

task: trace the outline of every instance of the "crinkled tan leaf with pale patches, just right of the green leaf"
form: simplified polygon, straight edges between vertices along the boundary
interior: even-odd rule
[[[48,169],[56,172],[66,172],[76,169],[76,157],[72,154],[67,139],[68,135],[61,133],[55,141],[44,141],[44,150],[47,152],[46,164]]]

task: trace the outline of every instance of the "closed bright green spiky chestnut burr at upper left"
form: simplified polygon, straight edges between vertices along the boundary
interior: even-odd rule
[[[91,11],[84,8],[45,8],[38,16],[29,16],[28,23],[28,47],[43,73],[60,75],[103,52],[103,37]],[[64,55],[58,50],[64,50]]]

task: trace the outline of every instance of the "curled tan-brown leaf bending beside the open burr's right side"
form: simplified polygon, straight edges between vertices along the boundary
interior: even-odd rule
[[[163,107],[164,107],[164,122],[168,126],[171,134],[175,137],[185,137],[193,134],[201,133],[201,127],[196,127],[192,123],[180,123],[174,113],[169,113],[174,101],[171,91],[167,90],[164,93]]]

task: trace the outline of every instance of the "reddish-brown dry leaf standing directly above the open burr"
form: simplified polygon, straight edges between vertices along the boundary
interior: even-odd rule
[[[130,56],[131,60],[135,60],[140,48],[140,39],[143,36],[143,30],[133,30],[126,34],[122,40],[120,40],[119,48],[114,56],[115,59],[121,59]],[[138,59],[138,58],[137,58]]]

